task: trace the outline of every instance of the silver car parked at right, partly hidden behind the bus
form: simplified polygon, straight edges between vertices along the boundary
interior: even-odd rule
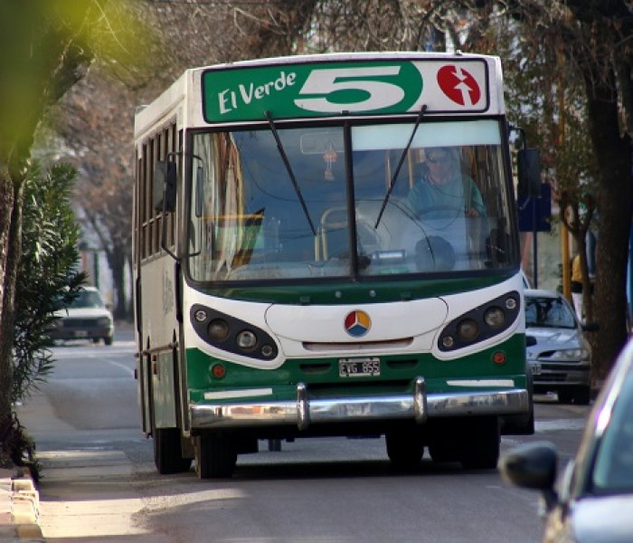
[[[569,301],[553,291],[527,289],[525,334],[534,393],[555,392],[559,401],[587,405],[591,392],[591,347]]]

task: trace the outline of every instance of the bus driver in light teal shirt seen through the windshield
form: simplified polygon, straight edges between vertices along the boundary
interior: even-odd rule
[[[421,219],[483,217],[486,207],[475,182],[461,173],[453,148],[428,148],[428,168],[411,188],[407,204]]]

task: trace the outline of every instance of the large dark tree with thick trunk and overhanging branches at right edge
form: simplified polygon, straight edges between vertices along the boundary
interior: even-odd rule
[[[577,86],[590,142],[592,185],[578,184],[576,191],[563,194],[563,205],[572,208],[569,225],[576,240],[583,243],[587,224],[578,210],[588,211],[595,203],[598,214],[597,274],[594,310],[600,331],[591,338],[596,377],[609,372],[628,338],[626,273],[628,232],[631,228],[631,143],[633,112],[631,62],[633,62],[633,19],[623,0],[566,0],[541,2],[515,0],[499,3],[505,13],[520,24],[526,45],[535,51],[546,43],[543,35],[555,36],[553,43],[566,73],[577,74],[564,84]],[[555,54],[555,52],[554,52]],[[555,58],[555,57],[554,57]],[[528,59],[529,60],[529,59]],[[560,69],[562,64],[559,64]],[[562,114],[562,112],[559,112]],[[553,151],[562,153],[572,144],[569,138]],[[577,155],[576,158],[583,155]],[[586,155],[585,155],[586,156]],[[571,157],[572,158],[572,157]],[[582,180],[581,180],[582,181]],[[590,187],[590,190],[588,188]],[[587,263],[583,262],[587,277]]]

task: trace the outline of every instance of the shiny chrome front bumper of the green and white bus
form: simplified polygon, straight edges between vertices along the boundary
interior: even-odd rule
[[[415,419],[422,424],[428,417],[523,414],[528,410],[527,390],[508,388],[428,395],[424,378],[417,377],[410,395],[310,398],[307,386],[299,383],[296,401],[190,405],[189,414],[191,428],[196,430],[277,424],[297,424],[299,430],[306,430],[310,424],[392,419]]]

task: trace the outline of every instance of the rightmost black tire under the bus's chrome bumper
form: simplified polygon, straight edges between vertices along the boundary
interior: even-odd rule
[[[461,465],[467,470],[493,470],[499,462],[501,433],[496,416],[475,419],[464,427]]]

